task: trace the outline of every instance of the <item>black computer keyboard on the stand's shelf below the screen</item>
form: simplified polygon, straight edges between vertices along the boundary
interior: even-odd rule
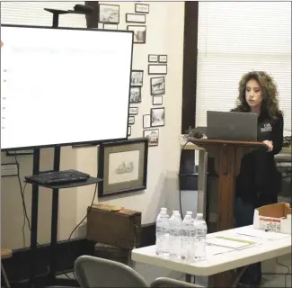
[[[73,169],[63,171],[52,171],[40,173],[39,175],[25,176],[29,183],[36,184],[66,184],[71,182],[85,181],[89,177],[88,174]]]

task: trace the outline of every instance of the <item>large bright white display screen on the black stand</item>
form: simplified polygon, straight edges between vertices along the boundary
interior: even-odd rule
[[[1,26],[1,150],[127,139],[133,32]]]

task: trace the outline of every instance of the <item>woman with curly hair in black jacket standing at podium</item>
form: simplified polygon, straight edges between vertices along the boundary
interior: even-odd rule
[[[281,175],[274,155],[283,147],[283,115],[279,110],[278,89],[265,72],[249,72],[239,82],[239,96],[234,112],[256,112],[258,141],[267,149],[256,149],[243,157],[236,179],[234,217],[237,227],[252,225],[255,208],[278,202]],[[261,263],[248,266],[240,287],[261,284]]]

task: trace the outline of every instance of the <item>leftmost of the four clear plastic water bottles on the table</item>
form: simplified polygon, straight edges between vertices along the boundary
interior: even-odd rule
[[[169,215],[167,208],[161,208],[156,219],[156,255],[169,256]]]

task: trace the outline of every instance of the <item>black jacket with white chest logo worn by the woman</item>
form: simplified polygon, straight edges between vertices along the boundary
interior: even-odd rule
[[[281,175],[274,155],[283,147],[283,116],[273,119],[267,114],[258,118],[258,141],[273,141],[273,150],[258,148],[243,156],[240,175],[236,179],[236,196],[256,203],[259,196],[277,195],[281,188]]]

